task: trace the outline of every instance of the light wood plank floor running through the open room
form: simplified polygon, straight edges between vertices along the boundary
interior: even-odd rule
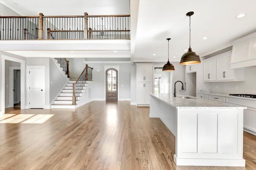
[[[0,122],[1,170],[256,169],[256,136],[246,132],[245,168],[176,166],[174,135],[160,119],[148,117],[148,107],[126,101],[94,101],[77,109],[11,108],[6,114],[54,116],[41,124]]]

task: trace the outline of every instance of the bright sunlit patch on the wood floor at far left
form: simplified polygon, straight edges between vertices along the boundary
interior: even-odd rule
[[[4,114],[0,116],[0,123],[44,123],[54,114]],[[23,121],[23,122],[22,122]]]

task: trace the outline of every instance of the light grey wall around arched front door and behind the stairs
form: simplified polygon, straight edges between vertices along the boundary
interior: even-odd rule
[[[68,58],[70,68],[70,80],[77,80],[82,71],[84,70],[86,63],[83,58]],[[119,77],[119,99],[130,100],[130,63],[88,63],[88,66],[93,67],[92,79],[90,84],[91,96],[96,100],[104,100],[106,93],[105,89],[105,75],[104,65],[120,65],[118,77]],[[98,71],[97,71],[98,70]],[[122,86],[123,85],[123,86]]]

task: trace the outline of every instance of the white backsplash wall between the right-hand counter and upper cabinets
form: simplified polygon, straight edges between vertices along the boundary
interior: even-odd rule
[[[244,82],[210,82],[210,92],[226,94],[256,94],[256,66],[245,69]],[[218,88],[216,88],[218,86]],[[238,89],[236,90],[236,86]]]

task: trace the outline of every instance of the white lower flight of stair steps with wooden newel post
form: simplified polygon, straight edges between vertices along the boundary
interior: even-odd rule
[[[76,105],[72,105],[73,83],[75,82],[76,80],[70,80],[66,84],[66,86],[62,89],[62,92],[60,92],[58,97],[54,100],[52,104],[52,108],[75,108],[76,107]],[[81,92],[76,93],[76,96],[78,96],[77,102],[79,102],[86,88],[87,88],[87,83],[81,84],[80,86]]]

